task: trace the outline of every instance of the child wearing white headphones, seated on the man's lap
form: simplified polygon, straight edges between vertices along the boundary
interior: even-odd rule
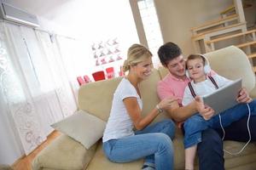
[[[232,82],[225,77],[219,76],[211,71],[209,62],[202,54],[191,54],[186,61],[186,75],[190,78],[188,86],[183,94],[183,105],[189,105],[192,100],[199,100],[197,96],[210,94],[218,88],[221,88]],[[204,105],[201,105],[204,107]],[[200,108],[198,109],[200,112]],[[256,100],[250,99],[248,104],[238,104],[218,116],[211,119],[202,117],[201,114],[195,114],[189,117],[183,123],[184,130],[184,148],[185,148],[185,169],[194,169],[195,153],[197,144],[201,142],[201,132],[209,127],[220,128],[227,127],[231,122],[240,120],[251,112],[256,115]],[[249,141],[248,141],[249,142]]]

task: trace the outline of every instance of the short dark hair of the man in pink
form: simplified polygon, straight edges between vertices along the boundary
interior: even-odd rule
[[[158,49],[158,56],[162,65],[167,65],[170,60],[183,54],[181,48],[176,43],[166,42]]]

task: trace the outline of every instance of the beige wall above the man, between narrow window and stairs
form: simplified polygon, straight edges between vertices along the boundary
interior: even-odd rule
[[[154,0],[164,42],[176,42],[183,54],[194,53],[190,28],[216,20],[232,0]]]

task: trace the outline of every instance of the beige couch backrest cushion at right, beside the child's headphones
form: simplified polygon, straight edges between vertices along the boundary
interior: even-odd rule
[[[235,80],[242,78],[242,86],[251,91],[255,86],[255,75],[247,55],[235,46],[221,48],[205,54],[213,71]]]

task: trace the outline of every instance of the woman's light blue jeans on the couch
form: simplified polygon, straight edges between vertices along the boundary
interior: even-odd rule
[[[157,122],[135,135],[122,139],[111,139],[103,143],[103,151],[110,161],[129,162],[145,157],[156,169],[173,169],[175,125],[172,120]]]

